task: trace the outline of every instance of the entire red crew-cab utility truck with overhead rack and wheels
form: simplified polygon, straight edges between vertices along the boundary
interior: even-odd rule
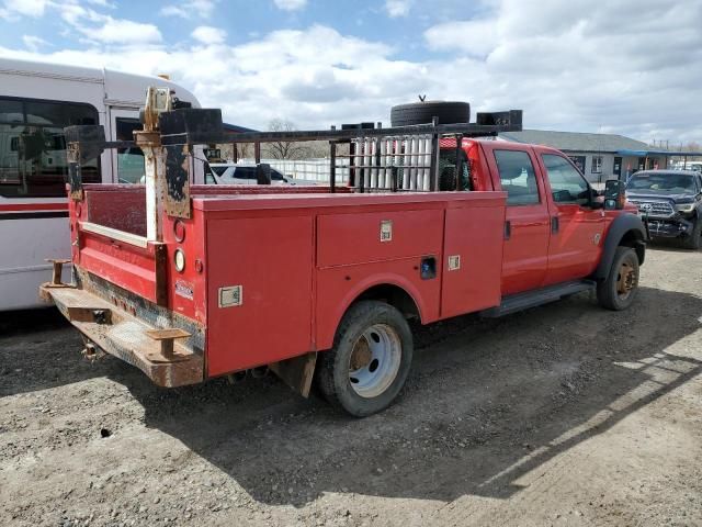
[[[623,187],[601,200],[562,153],[478,138],[519,130],[521,112],[241,134],[329,141],[330,186],[212,187],[189,183],[186,158],[217,141],[220,114],[158,113],[155,99],[135,134],[145,187],[82,184],[81,159],[113,145],[99,127],[66,130],[73,283],[57,272],[42,291],[88,354],[156,384],[268,367],[365,416],[408,377],[409,318],[501,316],[590,290],[610,310],[634,301],[645,229]],[[349,182],[337,186],[342,156]]]

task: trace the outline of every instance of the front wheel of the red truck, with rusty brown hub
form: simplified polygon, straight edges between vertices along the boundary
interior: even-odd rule
[[[597,285],[597,300],[613,311],[627,309],[638,290],[638,256],[631,247],[618,247],[607,279]]]

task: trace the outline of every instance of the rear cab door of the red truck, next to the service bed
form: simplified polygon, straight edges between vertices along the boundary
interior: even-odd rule
[[[484,145],[495,189],[507,192],[502,248],[502,295],[541,287],[548,262],[548,205],[531,148]]]

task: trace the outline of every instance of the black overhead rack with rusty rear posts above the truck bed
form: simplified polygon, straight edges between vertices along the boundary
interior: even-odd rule
[[[66,128],[69,157],[70,193],[80,200],[80,166],[106,148],[140,147],[146,160],[147,215],[159,209],[166,183],[163,210],[170,216],[190,217],[190,177],[196,145],[252,143],[260,152],[262,143],[324,141],[329,144],[329,192],[338,189],[338,170],[348,170],[348,184],[354,192],[435,192],[466,190],[465,178],[455,177],[455,188],[440,186],[440,152],[455,149],[455,175],[467,169],[462,139],[497,136],[500,132],[522,130],[522,111],[477,113],[475,123],[431,123],[383,128],[380,123],[342,125],[324,131],[245,132],[226,134],[218,109],[174,109],[158,99],[163,89],[149,88],[144,111],[144,130],[134,142],[107,142],[101,125]],[[168,96],[163,96],[168,99]],[[157,103],[160,102],[160,106]],[[258,158],[259,156],[257,156]],[[258,160],[258,159],[257,159]],[[339,162],[346,161],[343,166]],[[162,172],[159,176],[159,172]],[[270,182],[265,167],[259,170],[261,182]],[[268,181],[267,181],[268,179]]]

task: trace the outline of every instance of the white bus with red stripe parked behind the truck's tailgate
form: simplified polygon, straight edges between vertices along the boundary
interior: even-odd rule
[[[45,259],[70,257],[64,127],[98,123],[109,141],[131,141],[149,86],[200,106],[158,77],[0,58],[0,311],[44,305]],[[106,150],[82,170],[86,182],[138,183],[143,175],[137,148]]]

